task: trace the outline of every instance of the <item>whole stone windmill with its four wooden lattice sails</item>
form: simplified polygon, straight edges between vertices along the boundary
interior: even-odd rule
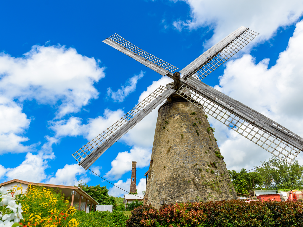
[[[242,26],[179,72],[177,67],[143,51],[118,34],[106,38],[104,43],[174,82],[158,87],[72,156],[85,170],[88,169],[112,144],[167,100],[159,108],[145,194],[149,201],[160,203],[169,200],[228,174],[208,123],[208,115],[290,164],[303,149],[301,137],[201,82],[257,35]],[[236,198],[230,180],[190,194],[174,201],[195,197],[204,201]]]

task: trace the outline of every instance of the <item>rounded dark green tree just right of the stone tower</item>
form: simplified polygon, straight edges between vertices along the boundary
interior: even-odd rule
[[[247,173],[246,169],[241,169],[240,173],[235,170],[228,170],[228,173],[231,176],[235,191],[241,194],[248,195],[253,190],[254,184],[262,184],[262,177],[256,172]]]

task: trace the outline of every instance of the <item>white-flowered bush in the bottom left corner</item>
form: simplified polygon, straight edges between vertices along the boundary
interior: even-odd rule
[[[0,227],[19,226],[22,219],[21,212],[21,204],[16,204],[12,190],[7,190],[2,186],[0,188]]]

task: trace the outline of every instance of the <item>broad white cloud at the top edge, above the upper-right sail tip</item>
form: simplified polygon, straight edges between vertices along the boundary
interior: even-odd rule
[[[254,2],[236,0],[207,1],[183,0],[191,9],[191,20],[174,21],[178,30],[182,28],[197,29],[209,26],[214,29],[214,35],[208,46],[211,46],[240,26],[249,27],[260,33],[258,39],[271,38],[279,27],[293,24],[303,12],[303,2],[300,0],[257,0]],[[173,0],[173,2],[176,2]]]

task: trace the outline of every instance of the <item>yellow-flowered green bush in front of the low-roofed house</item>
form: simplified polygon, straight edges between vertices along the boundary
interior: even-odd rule
[[[14,194],[18,194],[18,192]],[[79,225],[78,221],[73,218],[76,209],[69,206],[68,201],[64,200],[60,192],[43,186],[30,185],[28,192],[16,197],[16,200],[22,204],[23,227],[77,227]]]

